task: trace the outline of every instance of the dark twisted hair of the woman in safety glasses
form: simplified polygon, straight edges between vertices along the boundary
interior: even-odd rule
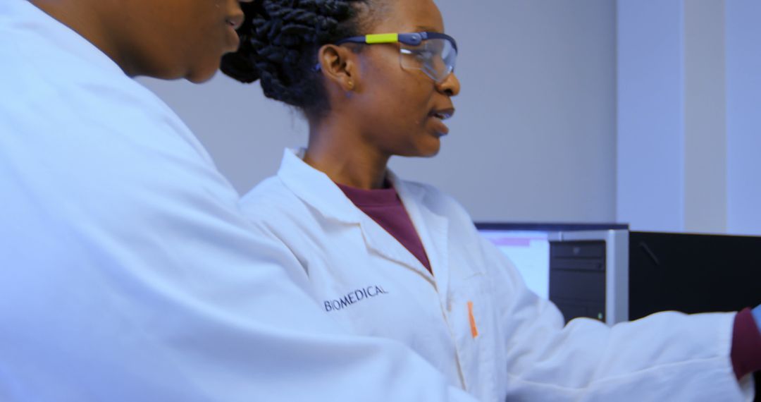
[[[222,59],[237,81],[260,80],[266,97],[322,114],[328,109],[322,74],[314,71],[320,46],[360,35],[377,0],[263,0],[241,3],[240,49]],[[374,10],[377,11],[377,10]]]

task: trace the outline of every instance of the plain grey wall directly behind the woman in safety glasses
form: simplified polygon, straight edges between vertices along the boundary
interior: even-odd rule
[[[463,89],[441,153],[392,161],[477,220],[616,217],[614,0],[439,0]],[[306,141],[297,113],[258,85],[142,80],[177,110],[240,192]]]

